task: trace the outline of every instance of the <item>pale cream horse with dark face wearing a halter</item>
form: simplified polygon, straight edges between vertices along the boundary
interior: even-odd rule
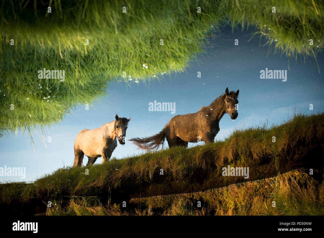
[[[112,152],[117,147],[117,140],[121,145],[125,144],[126,130],[131,118],[120,118],[116,114],[116,120],[102,125],[96,129],[81,130],[74,142],[74,166],[81,166],[83,156],[87,155],[87,165],[92,165],[98,157],[102,157],[102,163],[110,159]]]

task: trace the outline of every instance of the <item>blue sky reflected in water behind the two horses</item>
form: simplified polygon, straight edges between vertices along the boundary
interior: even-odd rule
[[[232,121],[225,114],[219,123],[220,131],[216,140],[223,140],[234,128],[247,128],[267,123],[280,124],[296,112],[311,114],[322,112],[323,76],[318,73],[314,58],[298,57],[290,59],[280,53],[269,54],[268,47],[259,47],[260,38],[255,36],[248,42],[252,32],[226,27],[221,34],[211,39],[212,47],[207,54],[201,54],[198,61],[190,63],[181,74],[160,75],[161,80],[126,85],[125,82],[111,84],[107,96],[100,98],[85,110],[83,105],[67,114],[59,125],[52,125],[45,138],[52,142],[41,142],[33,133],[35,152],[28,133],[11,134],[0,138],[0,167],[26,167],[26,178],[0,176],[4,181],[34,181],[44,174],[63,166],[72,166],[74,160],[74,140],[83,129],[93,129],[119,117],[132,118],[129,122],[126,139],[147,137],[158,133],[175,115],[194,113],[202,106],[208,106],[216,97],[225,93],[226,87],[239,89],[238,117]],[[238,45],[234,40],[238,39]],[[261,45],[264,41],[261,41]],[[163,57],[163,55],[161,55]],[[319,68],[324,72],[324,57],[317,57]],[[260,70],[287,70],[287,81],[281,79],[260,79]],[[201,72],[201,78],[197,72]],[[68,80],[68,79],[66,79]],[[171,112],[149,111],[150,102],[175,103],[175,114]],[[313,104],[313,111],[309,110]],[[47,140],[46,140],[47,141]],[[203,142],[201,142],[203,143]],[[195,146],[199,143],[189,143]],[[143,153],[129,141],[118,143],[112,157],[118,159]],[[102,162],[97,159],[96,164]],[[85,156],[83,164],[87,163]]]

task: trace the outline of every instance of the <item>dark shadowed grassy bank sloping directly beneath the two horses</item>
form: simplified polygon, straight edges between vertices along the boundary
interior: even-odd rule
[[[192,193],[269,178],[301,167],[316,170],[312,177],[321,183],[323,126],[324,114],[295,115],[280,126],[236,130],[225,141],[204,146],[59,169],[32,184],[0,185],[0,209],[34,214],[35,209],[46,209],[48,201],[65,204],[77,196],[121,204],[133,198]],[[273,136],[276,142],[272,142]],[[227,165],[249,167],[249,178],[222,176]]]

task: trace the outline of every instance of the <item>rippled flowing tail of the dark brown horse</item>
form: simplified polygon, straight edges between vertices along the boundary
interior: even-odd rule
[[[150,137],[146,137],[146,138],[132,138],[129,141],[133,141],[133,143],[135,145],[137,145],[139,148],[141,148],[142,150],[153,150],[153,149],[157,149],[159,147],[159,145],[162,144],[163,147],[163,143],[165,140],[165,128],[167,126],[165,126],[158,134],[154,135],[154,136],[150,136]]]

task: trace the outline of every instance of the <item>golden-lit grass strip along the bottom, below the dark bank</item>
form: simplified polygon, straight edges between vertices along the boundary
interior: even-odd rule
[[[308,172],[298,169],[204,192],[134,198],[126,207],[75,198],[64,208],[49,208],[46,215],[323,215],[324,183]]]

